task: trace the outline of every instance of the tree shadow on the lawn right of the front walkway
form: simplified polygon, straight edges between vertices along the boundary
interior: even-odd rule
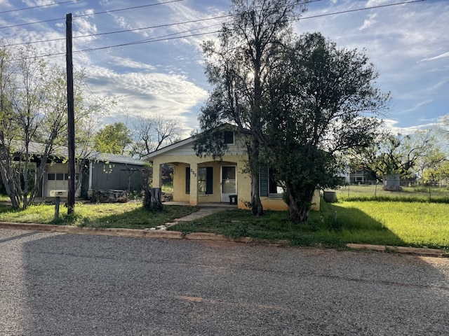
[[[403,245],[380,221],[358,209],[322,202],[306,223],[291,223],[287,211],[265,211],[255,217],[248,210],[221,211],[196,221],[179,223],[168,230],[213,232],[227,237],[288,240],[299,246],[343,247],[348,243]]]

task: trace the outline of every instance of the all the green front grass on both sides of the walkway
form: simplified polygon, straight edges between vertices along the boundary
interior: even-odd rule
[[[287,240],[299,246],[344,247],[347,243],[445,248],[449,251],[449,204],[424,198],[399,199],[359,196],[357,201],[337,197],[339,202],[321,202],[321,211],[311,211],[307,223],[288,221],[286,211],[265,211],[255,217],[248,210],[232,209],[179,223],[169,230],[213,232],[228,237]],[[442,198],[443,199],[443,198]],[[196,211],[194,207],[163,206],[147,212],[140,203],[76,204],[67,216],[60,207],[55,221],[54,205],[32,205],[25,211],[0,204],[0,221],[78,225],[92,228],[154,228]]]

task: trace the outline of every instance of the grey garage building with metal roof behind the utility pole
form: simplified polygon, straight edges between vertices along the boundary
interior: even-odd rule
[[[34,161],[39,160],[43,144],[29,144],[29,153]],[[57,146],[49,156],[43,179],[36,197],[50,197],[51,190],[68,190],[69,165],[67,147]],[[91,152],[85,155],[85,166],[81,174],[81,186],[76,190],[76,197],[88,197],[88,190],[142,190],[142,169],[145,162],[125,155]],[[76,165],[76,179],[79,179],[79,167]]]

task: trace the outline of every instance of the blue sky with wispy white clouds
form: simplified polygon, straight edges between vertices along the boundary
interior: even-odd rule
[[[384,116],[407,134],[449,113],[448,0],[312,1],[295,33],[320,31],[339,48],[366,52],[391,92]],[[201,43],[216,38],[230,0],[0,0],[0,40],[32,43],[65,66],[66,15],[72,13],[73,63],[86,71],[88,99],[118,104],[102,125],[137,117],[178,121],[183,137],[198,130],[210,85]],[[392,5],[392,6],[387,6]]]

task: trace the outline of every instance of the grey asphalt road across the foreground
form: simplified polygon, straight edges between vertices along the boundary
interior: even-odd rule
[[[449,335],[449,258],[0,230],[0,335]]]

